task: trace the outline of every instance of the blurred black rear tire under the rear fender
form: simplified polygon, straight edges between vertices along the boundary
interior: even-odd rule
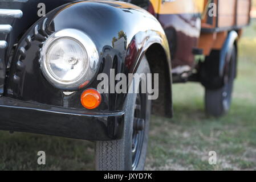
[[[226,71],[224,78],[224,86],[219,89],[205,89],[206,114],[213,117],[221,117],[230,109],[237,61],[235,46],[231,51],[228,71]]]

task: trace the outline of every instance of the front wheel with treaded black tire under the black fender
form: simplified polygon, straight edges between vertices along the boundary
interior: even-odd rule
[[[136,73],[150,73],[145,56]],[[145,83],[146,80],[140,80],[140,85]],[[148,94],[128,93],[124,111],[123,139],[96,142],[96,170],[144,169],[151,115],[151,101],[148,100]]]

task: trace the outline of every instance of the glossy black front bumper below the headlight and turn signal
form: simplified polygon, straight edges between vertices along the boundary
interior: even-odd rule
[[[114,140],[123,136],[124,112],[87,113],[1,97],[0,115],[1,130],[86,140]]]

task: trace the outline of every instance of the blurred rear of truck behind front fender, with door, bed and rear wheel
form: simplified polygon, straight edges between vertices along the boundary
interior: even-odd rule
[[[251,1],[151,0],[151,3],[153,10],[150,10],[168,38],[173,82],[201,82],[205,87],[206,113],[217,117],[226,113],[236,76],[237,42],[242,28],[250,22]]]

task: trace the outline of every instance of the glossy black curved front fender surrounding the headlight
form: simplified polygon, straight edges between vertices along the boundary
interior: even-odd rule
[[[42,28],[43,24],[46,25],[45,28]],[[35,35],[36,27],[39,32],[37,35]],[[115,69],[116,74],[127,75],[136,72],[141,56],[153,43],[161,44],[166,55],[169,55],[168,42],[161,25],[151,14],[137,6],[103,1],[71,3],[68,7],[62,6],[47,14],[23,36],[18,50],[25,49],[26,57],[21,57],[21,51],[16,52],[11,64],[5,96],[22,101],[84,109],[79,101],[80,94],[86,88],[96,88],[99,81],[94,79],[86,88],[66,96],[64,90],[50,85],[40,70],[39,50],[46,39],[42,35],[63,28],[76,28],[86,32],[94,40],[100,53],[99,73],[110,75],[111,68]],[[46,31],[43,32],[42,29]],[[31,46],[27,45],[28,37],[31,38]],[[113,43],[114,38],[119,46]],[[130,48],[132,46],[136,48]],[[168,61],[166,64],[170,69],[169,56]],[[123,110],[125,94],[103,94],[102,98],[103,103],[95,111]]]

